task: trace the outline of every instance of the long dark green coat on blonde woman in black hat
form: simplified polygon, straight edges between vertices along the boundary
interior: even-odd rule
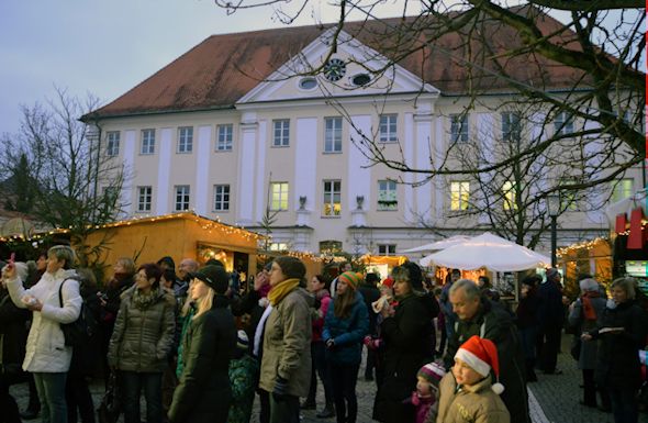
[[[216,296],[212,309],[191,321],[183,343],[183,370],[169,409],[171,423],[226,422],[232,401],[227,375],[236,348],[236,323],[228,300]]]

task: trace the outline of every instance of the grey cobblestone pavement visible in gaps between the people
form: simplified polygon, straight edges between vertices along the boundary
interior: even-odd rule
[[[571,335],[562,336],[562,350],[569,350]],[[582,399],[581,371],[578,370],[576,361],[569,354],[558,356],[558,367],[562,375],[543,375],[538,372],[538,381],[529,385],[529,409],[534,423],[613,423],[612,414],[603,413],[596,409],[590,409],[579,404]],[[373,422],[371,420],[371,410],[373,408],[373,397],[376,396],[376,382],[365,381],[361,377],[364,368],[360,368],[358,378],[358,423]],[[96,381],[91,386],[92,397],[96,405],[99,404],[103,393],[103,383]],[[21,409],[26,405],[27,391],[26,386],[20,385],[11,388],[11,392],[19,402]],[[324,405],[324,392],[322,385],[317,386],[317,409]],[[145,403],[142,404],[142,415],[144,416]],[[315,410],[302,411],[303,423],[326,423],[335,422],[332,419],[317,419]],[[30,422],[38,423],[40,419]],[[120,420],[123,422],[123,420]],[[253,413],[253,423],[258,423],[258,401],[255,399],[255,411]],[[639,416],[640,423],[648,423],[648,414],[643,413]],[[516,422],[511,422],[516,423]]]

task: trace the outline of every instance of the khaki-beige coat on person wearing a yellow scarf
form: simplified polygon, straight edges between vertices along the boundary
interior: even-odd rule
[[[275,389],[277,376],[288,380],[287,392],[306,397],[311,385],[311,304],[313,298],[295,288],[277,303],[266,320],[259,387]]]

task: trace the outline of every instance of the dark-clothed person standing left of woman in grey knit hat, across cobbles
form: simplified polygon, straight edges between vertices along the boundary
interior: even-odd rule
[[[539,353],[540,370],[546,375],[560,375],[556,369],[558,350],[560,349],[560,333],[565,323],[565,304],[562,303],[562,286],[557,269],[547,270],[547,281],[538,289],[540,307],[540,336],[543,346]]]

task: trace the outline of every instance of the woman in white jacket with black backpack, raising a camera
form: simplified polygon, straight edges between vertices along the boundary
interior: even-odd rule
[[[65,380],[72,357],[72,348],[65,345],[60,323],[71,323],[79,318],[81,297],[79,282],[68,279],[75,253],[65,245],[56,245],[47,252],[47,270],[30,289],[23,288],[13,264],[2,269],[2,277],[13,303],[33,312],[22,368],[34,375],[41,401],[43,423],[66,423]],[[58,292],[63,285],[60,307]]]

